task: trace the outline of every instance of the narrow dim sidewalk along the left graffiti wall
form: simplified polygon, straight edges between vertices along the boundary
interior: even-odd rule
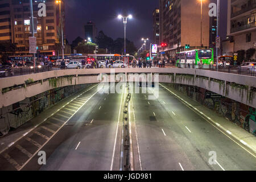
[[[92,88],[92,85],[89,87],[86,87],[85,89],[82,89],[80,92],[77,92],[72,96],[64,98],[64,100],[58,102],[56,105],[50,107],[49,109],[44,110],[35,118],[32,118],[27,123],[24,123],[24,125],[18,127],[18,129],[9,131],[7,135],[0,138],[0,154],[3,151],[5,151],[7,148],[13,146],[13,144],[16,143],[19,139],[23,138],[25,135],[30,133],[30,131],[38,127],[40,123],[46,121],[47,118],[51,117],[53,113],[56,113],[56,111],[59,110],[63,105],[66,105],[73,98],[79,96],[79,94],[81,94],[82,92],[84,92],[86,89],[89,89],[89,88]]]

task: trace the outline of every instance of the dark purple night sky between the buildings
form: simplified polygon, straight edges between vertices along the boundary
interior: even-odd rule
[[[198,1],[198,0],[191,0]],[[213,0],[214,1],[214,0]],[[123,23],[118,14],[132,14],[128,19],[127,39],[132,40],[138,48],[141,38],[153,36],[152,12],[159,7],[159,0],[68,0],[65,1],[65,26],[69,43],[81,36],[84,38],[84,25],[89,21],[96,23],[98,31],[107,36],[123,38]],[[226,0],[221,0],[221,36],[225,36]]]

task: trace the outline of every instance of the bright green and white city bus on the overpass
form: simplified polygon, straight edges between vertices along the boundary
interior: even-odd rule
[[[176,53],[177,63],[181,64],[214,64],[213,49],[195,49]]]

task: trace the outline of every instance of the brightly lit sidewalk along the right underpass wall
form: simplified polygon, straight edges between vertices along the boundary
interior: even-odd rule
[[[175,90],[174,88],[167,87],[165,84],[160,85],[163,85],[164,88],[179,98],[185,105],[190,107],[197,114],[201,115],[201,117],[205,118],[214,127],[222,131],[222,133],[224,133],[227,137],[232,139],[240,147],[244,148],[256,158],[256,137],[253,134],[222,117],[220,114],[215,113],[208,107],[205,107],[199,104],[199,102],[192,100],[192,98],[185,96],[183,93]]]

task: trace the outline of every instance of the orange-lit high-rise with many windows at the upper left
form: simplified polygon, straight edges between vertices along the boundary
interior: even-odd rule
[[[61,49],[59,5],[55,3],[55,0],[46,0],[46,17],[39,17],[38,5],[42,1],[33,2],[34,17],[37,18],[35,36],[38,51],[42,55],[52,55],[53,51],[60,51]],[[65,30],[64,0],[61,1],[61,14],[63,16],[63,30]],[[29,37],[32,36],[30,16],[29,0],[0,1],[0,41],[15,43],[18,47],[17,53],[29,53]]]

